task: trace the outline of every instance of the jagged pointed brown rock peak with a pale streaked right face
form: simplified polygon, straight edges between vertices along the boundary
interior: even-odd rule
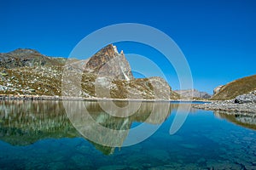
[[[132,80],[131,67],[125,59],[122,51],[118,52],[116,46],[110,44],[94,54],[85,65],[85,72],[94,73],[103,77],[113,77],[113,79]]]

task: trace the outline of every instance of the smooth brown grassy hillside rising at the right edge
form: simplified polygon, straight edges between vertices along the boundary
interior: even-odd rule
[[[213,90],[212,99],[235,99],[241,94],[248,94],[256,90],[256,75],[243,77]]]

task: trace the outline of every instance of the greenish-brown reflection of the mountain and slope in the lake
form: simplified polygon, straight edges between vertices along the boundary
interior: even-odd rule
[[[133,122],[160,124],[171,114],[173,108],[177,108],[177,104],[170,104],[169,102],[142,102],[138,110],[131,116],[117,117],[111,116],[102,110],[101,106],[103,105],[104,108],[111,111],[112,108],[108,108],[109,101],[100,101],[101,103],[96,101],[67,102],[69,105],[73,105],[72,108],[85,105],[90,116],[102,127],[127,130],[119,137],[103,136],[102,138],[102,140],[111,140],[110,143],[113,142],[120,145],[124,142]],[[122,108],[127,105],[127,102],[115,101],[115,105]],[[131,108],[126,108],[127,114],[132,110],[133,105],[137,106],[137,102],[131,103]],[[78,119],[75,119],[73,123],[70,122],[62,101],[6,100],[0,102],[0,108],[0,139],[13,145],[33,144],[38,140],[49,138],[82,137],[73,127],[73,123],[82,123],[83,126],[84,123],[86,124],[81,112],[74,114],[73,116],[78,116]],[[166,111],[167,114],[162,114],[163,111]],[[70,118],[73,119],[73,117]],[[95,133],[95,131],[92,131],[92,133]],[[101,138],[99,135],[102,135],[102,133],[95,133],[94,135],[96,138]],[[113,147],[96,144],[93,141],[90,141],[90,143],[94,144],[96,149],[101,150],[104,154],[113,153]]]

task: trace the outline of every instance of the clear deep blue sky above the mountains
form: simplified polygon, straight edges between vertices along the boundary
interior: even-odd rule
[[[256,73],[253,0],[1,0],[0,7],[0,52],[34,48],[49,56],[67,57],[92,31],[131,22],[154,26],[177,42],[197,89],[212,93],[218,85]],[[134,52],[131,47],[121,44],[119,50]],[[165,71],[172,77],[172,71]],[[175,80],[170,85],[178,88]]]

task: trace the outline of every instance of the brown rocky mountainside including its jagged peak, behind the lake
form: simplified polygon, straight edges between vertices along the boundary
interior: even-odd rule
[[[47,57],[32,49],[17,49],[0,54],[0,94],[60,96],[66,60]],[[102,48],[90,59],[74,59],[72,63],[84,65],[79,84],[80,95],[84,98],[179,98],[176,93],[170,94],[170,86],[160,77],[135,79],[125,54],[118,53],[113,45]],[[79,72],[73,65],[69,69]],[[72,78],[74,81],[79,80],[76,76]],[[103,93],[97,94],[96,88],[101,88]]]

